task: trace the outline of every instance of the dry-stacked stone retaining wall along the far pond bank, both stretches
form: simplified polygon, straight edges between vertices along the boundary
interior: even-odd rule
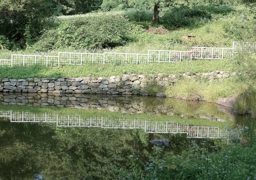
[[[218,81],[236,75],[235,72],[228,73],[214,71],[210,73],[163,73],[151,75],[160,86],[174,84],[181,79],[192,79],[194,81]],[[138,94],[147,95],[141,92],[143,82],[146,82],[144,75],[123,74],[122,76],[111,77],[84,77],[84,78],[28,78],[28,79],[0,79],[0,92],[19,93],[96,93],[96,94]],[[145,90],[146,91],[146,90]]]

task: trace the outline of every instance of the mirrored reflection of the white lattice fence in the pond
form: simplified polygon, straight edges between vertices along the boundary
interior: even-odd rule
[[[81,117],[81,115],[59,115],[58,113],[29,113],[0,111],[0,117],[11,122],[48,122],[57,127],[102,127],[113,129],[144,129],[148,133],[186,133],[188,138],[225,138],[227,132],[219,127],[189,127],[175,122],[146,121],[141,119]]]

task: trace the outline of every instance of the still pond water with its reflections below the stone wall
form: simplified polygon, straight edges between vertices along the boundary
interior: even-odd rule
[[[85,113],[77,114],[76,110]],[[0,179],[70,180],[83,179],[86,174],[93,180],[117,179],[114,170],[127,166],[125,158],[134,151],[147,160],[157,148],[179,154],[192,139],[200,142],[208,137],[209,144],[214,145],[216,139],[225,137],[219,127],[113,119],[91,116],[90,110],[105,110],[107,115],[115,112],[243,122],[243,117],[233,115],[229,108],[205,102],[144,96],[0,93]],[[156,139],[167,139],[170,145],[154,146],[150,141]]]

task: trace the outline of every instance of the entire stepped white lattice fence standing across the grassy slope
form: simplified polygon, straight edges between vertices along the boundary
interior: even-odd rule
[[[12,54],[12,59],[0,59],[3,66],[29,65],[83,65],[91,64],[144,64],[149,62],[181,62],[191,59],[224,59],[241,51],[255,52],[256,42],[233,42],[233,48],[192,47],[191,51],[148,50],[140,53],[69,53],[59,52],[58,56]]]

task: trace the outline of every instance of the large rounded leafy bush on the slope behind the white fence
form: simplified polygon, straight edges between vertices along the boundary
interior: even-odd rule
[[[47,31],[31,50],[113,48],[131,40],[132,28],[124,17],[117,15],[77,18]]]

